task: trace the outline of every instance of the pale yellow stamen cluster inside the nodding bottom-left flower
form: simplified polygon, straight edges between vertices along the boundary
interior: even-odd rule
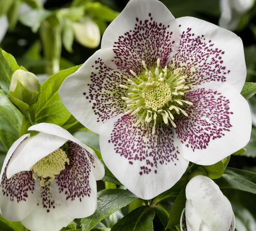
[[[53,181],[55,175],[59,175],[61,170],[65,169],[65,163],[69,164],[69,162],[66,152],[59,148],[33,165],[31,168],[33,178],[36,180],[37,175],[40,185],[45,186],[45,182]]]

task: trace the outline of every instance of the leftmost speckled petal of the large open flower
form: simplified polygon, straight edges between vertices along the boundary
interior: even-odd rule
[[[127,77],[107,67],[97,51],[63,81],[59,95],[80,123],[99,133],[101,124],[126,109],[122,96],[127,90],[119,86],[126,82]]]

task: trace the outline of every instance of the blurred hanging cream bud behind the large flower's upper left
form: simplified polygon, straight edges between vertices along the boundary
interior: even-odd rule
[[[89,17],[73,23],[76,40],[83,46],[96,48],[100,44],[99,26]]]

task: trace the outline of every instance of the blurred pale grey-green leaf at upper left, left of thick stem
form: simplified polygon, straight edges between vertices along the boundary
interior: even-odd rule
[[[31,27],[32,31],[36,33],[41,23],[52,14],[51,11],[45,9],[32,9],[29,12],[20,15],[20,22],[26,26]]]

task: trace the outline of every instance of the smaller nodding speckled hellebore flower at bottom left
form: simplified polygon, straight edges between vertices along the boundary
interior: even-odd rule
[[[32,231],[60,230],[97,207],[104,167],[95,152],[55,124],[33,125],[9,149],[0,176],[0,208]]]

